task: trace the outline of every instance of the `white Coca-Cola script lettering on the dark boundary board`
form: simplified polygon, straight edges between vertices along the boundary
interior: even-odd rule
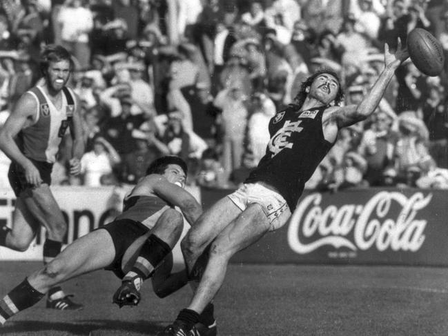
[[[432,197],[422,192],[407,197],[401,192],[382,191],[365,204],[323,206],[321,194],[307,195],[291,217],[288,243],[299,254],[322,246],[415,252],[425,241],[427,226],[420,210]]]

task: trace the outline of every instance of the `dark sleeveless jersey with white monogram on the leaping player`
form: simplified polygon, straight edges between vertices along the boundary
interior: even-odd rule
[[[325,107],[299,111],[289,106],[269,121],[271,139],[266,155],[244,183],[265,182],[295,209],[304,184],[333,146],[324,139]]]

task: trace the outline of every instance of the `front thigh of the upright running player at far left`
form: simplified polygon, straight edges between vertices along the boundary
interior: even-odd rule
[[[65,224],[64,216],[48,184],[41,184],[33,189],[32,197],[23,198],[23,201],[32,215],[40,219],[46,228]]]

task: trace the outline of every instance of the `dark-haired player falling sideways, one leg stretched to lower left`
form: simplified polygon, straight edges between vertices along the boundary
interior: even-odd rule
[[[193,195],[184,190],[186,173],[186,164],[179,157],[166,156],[153,161],[146,177],[125,197],[121,215],[73,241],[55,259],[0,300],[0,324],[37,304],[53,286],[101,268],[112,270],[123,278],[130,271],[128,265],[138,264],[139,269],[150,277],[165,259],[168,264],[162,265],[153,281],[155,293],[164,297],[186,284],[186,273],[171,276],[169,264],[169,254],[184,228],[184,217],[193,224],[202,213],[202,207]],[[175,206],[182,214],[175,210]],[[119,306],[126,304],[115,303]],[[208,321],[214,321],[213,308],[204,315],[207,325]]]

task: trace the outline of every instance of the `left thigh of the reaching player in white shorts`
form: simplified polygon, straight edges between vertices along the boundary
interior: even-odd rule
[[[231,199],[224,197],[208,208],[188,231],[186,238],[206,246],[242,213]]]

